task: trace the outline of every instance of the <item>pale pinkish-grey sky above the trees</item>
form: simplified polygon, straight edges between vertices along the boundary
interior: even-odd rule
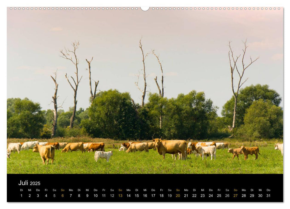
[[[136,88],[142,70],[139,39],[144,52],[155,49],[164,71],[164,96],[177,97],[191,90],[204,91],[220,111],[231,98],[228,41],[236,55],[247,38],[249,56],[255,59],[245,71],[243,87],[268,84],[283,97],[283,9],[281,10],[10,10],[7,8],[7,98],[27,97],[44,110],[50,104],[57,71],[58,103],[73,106],[73,91],[65,73],[74,75],[73,64],[59,57],[60,50],[80,42],[78,104],[89,106],[88,67],[99,90],[128,91],[141,103]],[[240,60],[241,61],[241,60]],[[238,62],[241,69],[241,62]],[[147,90],[158,92],[160,67],[153,55],[145,59]],[[237,78],[237,74],[235,76]],[[142,87],[143,80],[139,85]],[[145,102],[148,100],[148,93]],[[281,102],[281,106],[283,101]]]

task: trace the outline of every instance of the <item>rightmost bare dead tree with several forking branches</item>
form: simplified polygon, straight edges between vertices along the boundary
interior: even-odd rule
[[[228,51],[228,59],[230,61],[230,69],[231,69],[231,89],[232,92],[234,94],[234,99],[235,99],[235,104],[234,104],[234,116],[233,116],[233,125],[232,127],[229,126],[229,129],[232,131],[235,128],[235,123],[236,123],[236,114],[237,114],[237,101],[238,101],[238,95],[239,95],[239,90],[240,87],[248,80],[245,79],[245,81],[242,82],[245,70],[253,63],[255,62],[257,59],[259,59],[260,57],[258,56],[255,60],[252,60],[251,56],[250,56],[250,60],[251,62],[247,65],[244,64],[244,59],[245,59],[245,53],[246,53],[246,49],[248,48],[247,46],[247,39],[245,40],[244,43],[244,49],[243,49],[243,57],[242,57],[242,70],[238,70],[237,67],[237,61],[240,58],[241,54],[239,56],[234,57],[234,51],[231,48],[231,42],[228,42],[228,46],[230,48],[230,50]],[[232,63],[233,62],[233,63]],[[237,85],[237,90],[235,92],[234,90],[234,70],[237,71],[238,75],[239,75],[239,82]],[[232,134],[230,137],[232,137],[234,134]]]

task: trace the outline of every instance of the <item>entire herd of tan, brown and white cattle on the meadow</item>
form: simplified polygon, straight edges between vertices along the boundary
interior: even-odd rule
[[[185,160],[191,153],[196,156],[202,156],[202,160],[205,156],[211,155],[211,160],[214,157],[216,159],[216,150],[228,148],[227,142],[187,142],[185,140],[162,140],[153,139],[151,142],[124,142],[122,143],[119,151],[125,152],[136,152],[136,151],[146,151],[149,149],[156,150],[165,159],[165,154],[171,154],[172,159],[175,157],[177,159]],[[283,143],[276,143],[274,145],[275,150],[281,150],[283,156]],[[53,164],[55,150],[62,149],[61,152],[68,151],[78,151],[81,150],[82,153],[85,151],[95,152],[94,159],[97,161],[99,158],[104,158],[109,162],[110,157],[113,155],[113,151],[105,152],[105,144],[103,142],[93,143],[93,142],[77,142],[77,143],[67,143],[67,142],[18,142],[9,143],[7,148],[7,158],[10,158],[11,152],[21,150],[33,149],[33,152],[39,152],[43,164],[48,164],[49,159],[51,159],[51,164]],[[257,159],[259,152],[259,147],[245,147],[241,146],[239,148],[228,148],[228,153],[233,153],[233,158],[237,156],[239,159],[239,154],[245,156],[245,160],[248,159],[248,155],[255,155]]]

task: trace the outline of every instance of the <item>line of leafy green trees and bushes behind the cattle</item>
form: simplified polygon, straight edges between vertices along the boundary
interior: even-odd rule
[[[281,96],[268,85],[240,89],[235,136],[246,138],[283,138]],[[58,110],[56,136],[91,136],[112,139],[207,139],[230,136],[234,110],[232,96],[221,114],[204,92],[192,90],[177,98],[149,93],[148,102],[135,104],[128,92],[99,92],[89,108],[76,111],[74,127],[69,129],[73,107]],[[162,128],[159,118],[162,114]],[[52,110],[41,110],[39,103],[27,98],[7,99],[7,138],[50,138]]]

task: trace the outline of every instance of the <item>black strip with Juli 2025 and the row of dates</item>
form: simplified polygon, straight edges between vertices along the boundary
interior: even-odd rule
[[[7,174],[7,202],[283,202],[283,174]]]

